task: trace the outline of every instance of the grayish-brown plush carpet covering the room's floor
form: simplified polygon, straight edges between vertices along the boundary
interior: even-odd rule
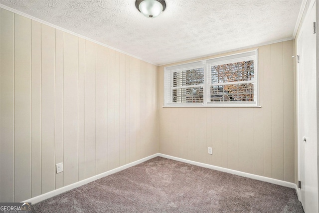
[[[32,205],[32,213],[303,213],[295,189],[161,157]]]

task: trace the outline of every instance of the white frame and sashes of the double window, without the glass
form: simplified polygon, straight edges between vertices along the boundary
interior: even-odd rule
[[[241,61],[254,60],[254,101],[240,102],[240,101],[225,101],[225,102],[211,102],[210,101],[210,87],[211,87],[211,66],[236,63]],[[203,68],[204,69],[204,85],[203,85],[203,103],[173,103],[173,72],[182,70]],[[259,107],[259,88],[258,88],[258,49],[253,51],[232,54],[211,58],[207,60],[195,61],[192,63],[180,64],[175,66],[164,67],[164,107]]]

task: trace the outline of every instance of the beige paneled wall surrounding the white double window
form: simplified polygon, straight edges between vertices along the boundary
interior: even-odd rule
[[[164,108],[160,66],[160,153],[295,183],[294,41],[258,50],[261,108]]]

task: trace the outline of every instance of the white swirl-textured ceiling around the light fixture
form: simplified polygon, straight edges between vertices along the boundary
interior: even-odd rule
[[[151,19],[135,0],[0,0],[154,64],[292,38],[302,0],[165,0]]]

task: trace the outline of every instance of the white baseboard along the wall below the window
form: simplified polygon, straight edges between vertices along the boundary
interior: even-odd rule
[[[184,162],[187,164],[192,164],[195,166],[200,166],[200,167],[205,167],[205,168],[209,168],[209,169],[213,169],[213,170],[217,170],[217,171],[221,171],[221,172],[226,172],[226,173],[230,173],[233,175],[238,175],[238,176],[242,176],[242,177],[246,177],[246,178],[251,178],[251,179],[255,179],[255,180],[259,180],[259,181],[264,181],[264,182],[268,182],[271,184],[276,184],[276,185],[280,185],[280,186],[284,186],[284,187],[289,187],[289,188],[293,188],[295,189],[297,187],[296,184],[294,183],[290,183],[287,181],[281,181],[281,180],[277,180],[277,179],[273,179],[273,178],[267,178],[264,176],[259,176],[259,175],[254,175],[254,174],[250,174],[250,173],[245,173],[245,172],[240,172],[240,171],[236,171],[236,170],[231,170],[231,169],[226,169],[223,167],[217,167],[217,166],[213,166],[213,165],[209,165],[209,164],[204,164],[204,163],[199,163],[196,161],[190,161],[190,160],[186,160],[183,158],[177,158],[177,157],[173,157],[170,155],[164,155],[164,154],[160,154],[160,157],[163,158],[168,158],[171,160],[175,160],[175,161],[180,161],[180,162]]]

